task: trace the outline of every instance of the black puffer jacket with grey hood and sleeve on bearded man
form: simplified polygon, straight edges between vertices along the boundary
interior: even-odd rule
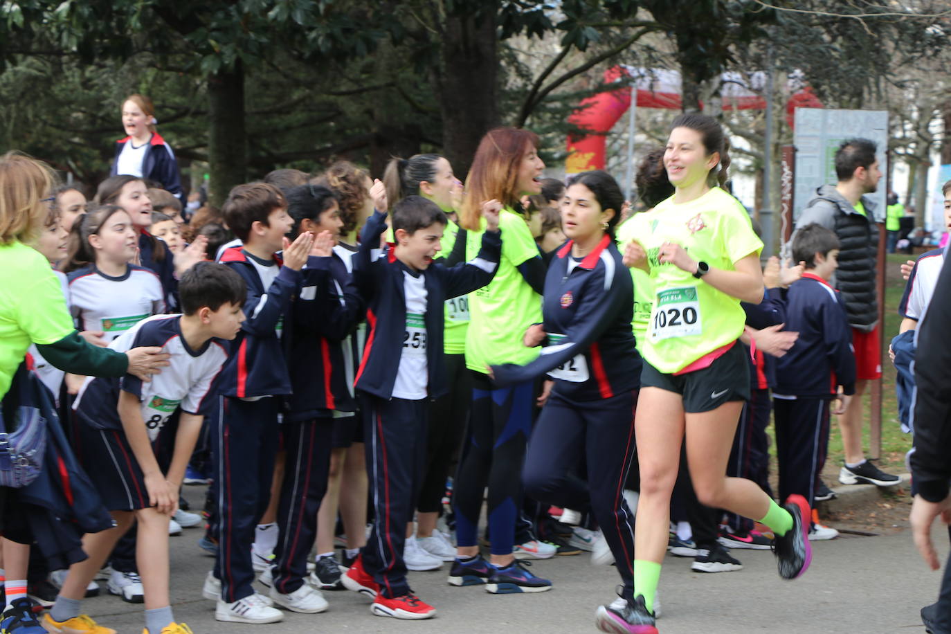
[[[875,202],[862,197],[866,218],[846,201],[834,185],[816,189],[805,205],[796,228],[817,222],[839,237],[839,269],[832,285],[842,294],[849,325],[871,332],[879,319],[875,272],[879,252],[879,227],[875,223]]]

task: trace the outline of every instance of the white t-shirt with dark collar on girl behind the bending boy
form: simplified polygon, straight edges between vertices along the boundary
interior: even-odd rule
[[[159,277],[141,266],[128,265],[126,275],[111,278],[95,266],[68,275],[69,312],[79,330],[102,331],[111,341],[146,317],[165,312]]]

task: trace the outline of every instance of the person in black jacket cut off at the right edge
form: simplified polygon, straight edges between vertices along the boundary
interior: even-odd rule
[[[944,259],[935,295],[918,329],[915,354],[914,451],[911,473],[918,489],[911,508],[911,528],[915,546],[931,569],[940,567],[931,542],[931,526],[941,520],[951,523],[951,392],[947,373],[951,368],[951,337],[947,323],[951,319],[951,266]],[[922,609],[922,621],[933,634],[951,634],[951,564],[944,568],[941,596],[936,605]]]

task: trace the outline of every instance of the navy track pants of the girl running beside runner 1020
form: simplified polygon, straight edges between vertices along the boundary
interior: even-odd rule
[[[621,493],[636,451],[636,407],[637,391],[583,403],[550,395],[529,440],[522,475],[525,494],[542,502],[583,509],[591,500],[628,599],[634,587],[634,515]],[[587,489],[571,475],[582,457]]]

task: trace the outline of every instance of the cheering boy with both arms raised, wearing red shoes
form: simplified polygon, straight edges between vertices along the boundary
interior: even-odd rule
[[[378,209],[386,208],[383,183],[373,187]],[[393,213],[397,240],[383,258],[379,239],[386,212],[367,221],[354,274],[367,300],[369,326],[357,390],[366,442],[370,496],[376,511],[373,532],[343,585],[374,597],[378,616],[426,619],[436,612],[413,594],[406,581],[403,545],[416,506],[426,456],[429,399],[445,394],[443,302],[492,281],[501,240],[498,202],[486,202],[489,221],[478,257],[452,268],[432,265],[446,216],[419,196],[398,202]]]

